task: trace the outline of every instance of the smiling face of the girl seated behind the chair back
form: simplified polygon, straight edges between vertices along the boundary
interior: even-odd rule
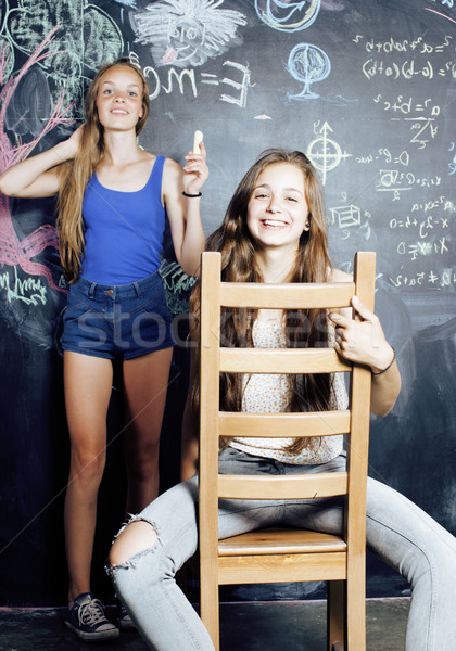
[[[266,167],[258,176],[249,201],[248,228],[257,248],[297,251],[308,230],[308,206],[304,175],[289,163]]]

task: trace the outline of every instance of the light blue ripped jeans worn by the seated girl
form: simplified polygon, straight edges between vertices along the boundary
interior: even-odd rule
[[[341,455],[319,469],[338,471],[344,465]],[[224,450],[219,460],[221,473],[302,474],[307,468],[233,448]],[[197,551],[197,510],[198,480],[192,477],[132,518],[149,522],[156,531],[153,548],[106,570],[138,629],[155,651],[214,650],[203,623],[175,582],[176,572]],[[220,502],[220,538],[273,525],[340,533],[341,502],[333,498]],[[401,494],[369,477],[367,546],[411,586],[406,651],[454,651],[456,539]]]

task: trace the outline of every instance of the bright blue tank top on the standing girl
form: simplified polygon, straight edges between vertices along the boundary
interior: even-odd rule
[[[148,182],[137,192],[109,190],[97,173],[89,179],[83,200],[84,278],[119,285],[156,271],[165,229],[161,200],[164,163],[164,156],[156,157]]]

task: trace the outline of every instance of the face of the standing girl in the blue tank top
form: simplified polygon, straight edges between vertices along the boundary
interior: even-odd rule
[[[100,78],[97,110],[101,125],[114,130],[134,129],[144,114],[142,79],[129,66],[110,67]]]

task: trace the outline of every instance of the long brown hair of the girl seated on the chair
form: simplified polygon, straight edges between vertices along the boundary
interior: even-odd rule
[[[294,165],[304,176],[305,199],[308,206],[311,228],[303,231],[294,266],[287,282],[326,282],[331,268],[328,254],[326,210],[321,186],[312,163],[299,151],[267,150],[245,174],[228,205],[225,219],[208,237],[207,251],[221,253],[221,279],[229,282],[262,282],[262,273],[255,260],[255,244],[248,229],[248,206],[258,176],[269,165]],[[195,285],[190,298],[192,339],[198,341],[200,315],[200,286]],[[252,309],[225,309],[223,336],[225,346],[252,346],[252,326],[256,314]],[[286,339],[288,347],[313,347],[328,345],[327,316],[325,310],[288,310],[286,314]],[[193,348],[191,404],[193,416],[199,409],[199,362]],[[328,374],[291,375],[292,396],[290,411],[326,410],[330,396]],[[242,407],[243,384],[239,373],[220,376],[220,408],[239,411]],[[226,442],[225,442],[226,443]],[[297,452],[308,445],[297,439],[289,451]]]

